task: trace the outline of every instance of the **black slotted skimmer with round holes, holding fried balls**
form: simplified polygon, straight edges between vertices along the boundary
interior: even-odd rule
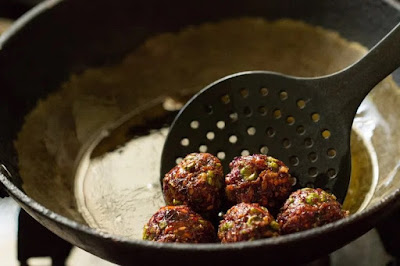
[[[218,156],[225,174],[235,156],[268,153],[289,166],[297,187],[327,189],[343,201],[356,111],[399,66],[400,24],[362,59],[332,75],[249,71],[222,78],[175,118],[163,148],[161,178],[191,152]]]

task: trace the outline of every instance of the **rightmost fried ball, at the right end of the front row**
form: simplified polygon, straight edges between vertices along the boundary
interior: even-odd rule
[[[320,188],[293,192],[278,215],[282,234],[304,231],[349,215],[333,194]]]

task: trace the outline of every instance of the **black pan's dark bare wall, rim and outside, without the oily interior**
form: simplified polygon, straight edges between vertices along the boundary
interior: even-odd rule
[[[349,40],[371,47],[399,22],[399,10],[397,2],[376,0],[45,1],[0,37],[1,184],[7,194],[45,227],[72,244],[118,264],[236,265],[249,261],[288,264],[332,252],[394,211],[400,203],[400,190],[388,186],[384,193],[374,194],[374,204],[348,219],[275,239],[232,245],[144,242],[92,229],[63,213],[69,206],[59,206],[55,212],[39,204],[35,196],[27,195],[22,188],[24,180],[19,175],[13,141],[25,115],[37,101],[55,91],[72,73],[116,63],[156,34],[226,18],[285,17],[338,31]],[[394,73],[394,78],[399,80],[399,73]],[[394,172],[392,182],[398,178]]]

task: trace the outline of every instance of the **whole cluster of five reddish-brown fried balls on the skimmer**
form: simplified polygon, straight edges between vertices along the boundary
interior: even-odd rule
[[[303,188],[293,193],[289,168],[271,156],[234,158],[224,177],[209,153],[191,153],[163,179],[168,206],[144,226],[143,239],[157,242],[232,243],[304,231],[348,216],[333,194]],[[222,201],[233,205],[218,231],[203,217],[215,216]],[[236,204],[236,205],[235,205]],[[278,213],[277,219],[271,213]]]

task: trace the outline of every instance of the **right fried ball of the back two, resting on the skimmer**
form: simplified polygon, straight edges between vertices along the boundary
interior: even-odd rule
[[[254,154],[236,157],[225,177],[226,195],[234,203],[256,202],[279,208],[289,196],[294,178],[289,168],[273,157]]]

